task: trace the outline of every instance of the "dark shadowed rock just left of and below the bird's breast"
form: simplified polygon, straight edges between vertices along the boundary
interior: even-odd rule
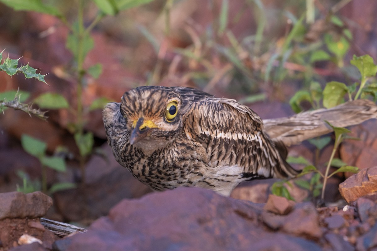
[[[54,194],[55,207],[68,221],[97,219],[124,198],[139,198],[151,190],[113,157],[107,143],[101,146],[109,158],[93,156],[86,165],[86,187]],[[75,203],[72,203],[75,201]]]

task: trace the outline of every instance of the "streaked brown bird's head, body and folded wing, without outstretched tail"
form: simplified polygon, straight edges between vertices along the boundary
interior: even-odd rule
[[[116,160],[153,190],[193,186],[229,196],[242,181],[298,173],[253,110],[195,88],[134,88],[105,106],[103,122]]]

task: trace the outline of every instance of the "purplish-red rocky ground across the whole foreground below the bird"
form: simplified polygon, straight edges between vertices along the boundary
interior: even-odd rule
[[[179,188],[124,199],[87,233],[59,238],[39,217],[52,200],[40,192],[2,193],[0,250],[375,250],[377,167],[341,184],[349,204],[316,208],[269,195],[266,203]],[[23,243],[20,236],[37,238]],[[38,240],[40,240],[38,242]]]

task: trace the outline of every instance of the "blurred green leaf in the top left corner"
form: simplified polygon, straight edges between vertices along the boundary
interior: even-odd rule
[[[13,8],[15,11],[36,11],[61,17],[60,11],[51,5],[42,3],[41,0],[0,0],[0,2]]]

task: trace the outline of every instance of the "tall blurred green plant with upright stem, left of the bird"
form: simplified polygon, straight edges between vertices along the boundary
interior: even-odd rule
[[[9,1],[0,0],[0,2],[8,5],[16,11],[36,11],[49,15],[53,15],[61,20],[61,22],[69,28],[69,35],[66,40],[66,47],[72,53],[74,64],[70,69],[70,74],[74,76],[76,85],[76,102],[73,100],[69,103],[65,97],[57,93],[44,93],[34,99],[34,102],[40,108],[46,109],[68,109],[73,115],[74,120],[68,123],[67,128],[74,134],[76,145],[80,152],[80,168],[82,183],[85,183],[85,169],[84,164],[93,152],[94,138],[91,132],[85,132],[84,126],[86,124],[85,118],[89,111],[103,108],[103,106],[110,100],[103,97],[98,98],[89,107],[84,107],[83,104],[83,90],[86,87],[86,77],[92,76],[98,78],[102,72],[101,64],[95,64],[90,67],[84,68],[84,60],[87,53],[93,49],[94,41],[90,36],[90,32],[99,21],[104,17],[111,15],[114,16],[120,11],[124,11],[135,6],[143,5],[152,2],[152,0],[78,0],[76,17],[70,21],[65,17],[63,12],[59,9],[59,1],[49,1],[44,3],[41,0],[28,1]],[[97,15],[94,18],[85,17],[85,9],[88,5],[94,3],[98,8]],[[88,15],[89,16],[89,15]],[[89,20],[90,19],[90,20]],[[86,25],[88,24],[88,25]],[[76,105],[73,105],[75,103]]]

